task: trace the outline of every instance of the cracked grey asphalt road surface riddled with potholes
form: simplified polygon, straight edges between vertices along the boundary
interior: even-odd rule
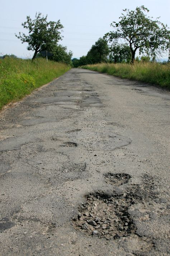
[[[0,255],[169,255],[169,106],[71,69],[1,111]]]

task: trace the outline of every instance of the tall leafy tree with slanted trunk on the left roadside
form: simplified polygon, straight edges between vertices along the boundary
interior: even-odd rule
[[[28,29],[29,35],[19,32],[19,35],[15,36],[22,41],[28,43],[27,50],[34,51],[32,59],[36,58],[39,51],[48,50],[52,51],[57,42],[62,39],[61,29],[63,28],[60,20],[47,21],[47,15],[41,16],[41,13],[36,13],[35,19],[31,19],[27,16],[27,21],[22,23],[22,26]]]

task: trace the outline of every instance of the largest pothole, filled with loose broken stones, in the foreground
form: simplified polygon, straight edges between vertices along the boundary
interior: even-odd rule
[[[117,239],[127,237],[134,230],[128,208],[134,204],[126,193],[107,195],[103,192],[89,194],[79,207],[79,214],[73,219],[74,227],[99,238]]]

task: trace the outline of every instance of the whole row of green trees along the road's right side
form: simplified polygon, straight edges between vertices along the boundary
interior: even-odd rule
[[[156,56],[161,57],[165,50],[170,49],[169,28],[158,18],[153,20],[147,17],[145,12],[149,10],[145,6],[123,11],[119,22],[110,25],[113,31],[106,33],[103,39],[100,38],[86,56],[72,60],[74,67],[100,62],[133,63],[137,51],[143,54],[141,58],[137,57],[138,62],[148,62],[151,58],[155,61]],[[120,40],[124,43],[120,44]]]

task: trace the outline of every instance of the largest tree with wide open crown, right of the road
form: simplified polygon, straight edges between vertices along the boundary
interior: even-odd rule
[[[115,31],[105,34],[109,42],[125,40],[131,49],[132,62],[135,60],[136,51],[140,54],[161,55],[168,48],[170,31],[167,25],[161,23],[158,18],[152,20],[144,12],[149,12],[145,6],[137,7],[135,10],[124,9],[125,14],[119,17],[119,22],[113,22]]]

